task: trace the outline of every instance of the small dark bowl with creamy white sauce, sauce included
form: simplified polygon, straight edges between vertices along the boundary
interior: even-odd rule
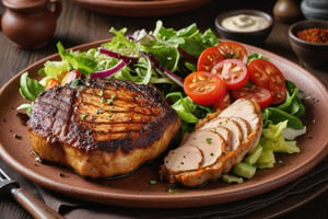
[[[263,11],[242,9],[219,14],[214,24],[222,38],[259,45],[271,33],[273,19]]]

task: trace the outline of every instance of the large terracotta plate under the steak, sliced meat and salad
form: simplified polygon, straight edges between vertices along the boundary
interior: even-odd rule
[[[104,41],[74,49],[86,49],[102,43]],[[58,58],[58,55],[27,67],[1,89],[0,155],[11,168],[36,184],[67,196],[116,206],[148,208],[207,206],[253,197],[280,187],[311,171],[328,154],[328,93],[316,78],[300,66],[260,48],[248,45],[246,47],[249,51],[269,57],[289,80],[294,81],[308,95],[305,101],[307,112],[304,118],[307,134],[298,139],[302,152],[280,157],[279,159],[285,163],[283,166],[277,165],[270,170],[258,171],[254,178],[243,184],[226,185],[216,182],[197,189],[175,188],[175,193],[168,193],[165,183],[150,184],[150,181],[157,178],[161,159],[142,166],[132,175],[101,182],[83,180],[65,168],[38,163],[30,154],[26,127],[16,116],[15,107],[25,102],[19,94],[19,79],[24,71],[37,77],[37,69],[46,60]],[[15,135],[22,139],[16,139]]]

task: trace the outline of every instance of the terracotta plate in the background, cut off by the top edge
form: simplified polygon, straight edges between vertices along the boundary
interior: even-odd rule
[[[92,11],[121,16],[160,16],[196,9],[212,0],[72,0]]]

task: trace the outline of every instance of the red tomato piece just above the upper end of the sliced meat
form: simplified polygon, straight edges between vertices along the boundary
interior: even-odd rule
[[[269,106],[272,101],[272,94],[269,90],[251,83],[241,89],[232,90],[232,95],[234,99],[251,99],[257,102],[261,108]]]

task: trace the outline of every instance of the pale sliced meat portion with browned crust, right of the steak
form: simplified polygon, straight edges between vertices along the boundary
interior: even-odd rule
[[[160,177],[169,183],[180,183],[188,187],[220,178],[223,173],[230,172],[233,165],[241,162],[256,147],[261,136],[261,123],[260,107],[256,103],[246,99],[235,101],[214,118],[201,122],[201,125],[197,126],[197,129],[177,149],[172,150],[165,157],[160,170]],[[209,145],[208,139],[215,143]],[[186,145],[202,152],[200,164],[198,164],[199,159],[194,159],[196,163],[192,163],[192,159],[188,160],[188,154],[184,150]],[[190,151],[188,149],[189,153]],[[212,151],[210,153],[212,157],[206,155],[204,151]],[[172,157],[172,153],[175,155]],[[181,155],[186,157],[184,157],[184,162],[188,162],[188,166],[192,168],[172,169],[172,163],[178,163]],[[195,169],[196,165],[198,165],[197,169]]]

